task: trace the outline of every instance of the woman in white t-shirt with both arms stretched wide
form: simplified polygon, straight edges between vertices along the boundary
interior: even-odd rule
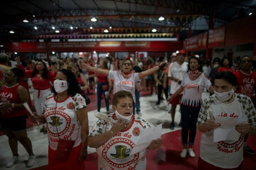
[[[81,62],[79,66],[81,69],[88,69],[95,73],[106,75],[110,79],[113,79],[114,94],[120,90],[129,91],[133,95],[133,101],[136,101],[135,100],[135,83],[138,82],[139,79],[141,79],[142,77],[153,74],[155,71],[159,70],[160,68],[164,69],[164,67],[166,66],[166,63],[163,62],[157,67],[153,67],[151,69],[142,71],[140,73],[133,72],[133,65],[131,60],[129,59],[123,60],[120,71],[112,71],[112,70],[95,68],[83,62]],[[135,103],[133,104],[133,108],[135,108]],[[135,114],[135,109],[133,114]]]

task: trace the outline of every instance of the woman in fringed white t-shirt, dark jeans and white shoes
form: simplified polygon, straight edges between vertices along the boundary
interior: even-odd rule
[[[182,121],[182,145],[181,158],[185,158],[187,152],[191,158],[195,157],[193,144],[197,132],[197,118],[202,105],[202,92],[207,88],[213,93],[213,86],[206,75],[202,74],[202,61],[198,57],[189,59],[188,72],[185,74],[181,87],[171,95],[167,101],[183,92],[181,98],[181,121]],[[189,148],[187,149],[187,135],[189,134]]]

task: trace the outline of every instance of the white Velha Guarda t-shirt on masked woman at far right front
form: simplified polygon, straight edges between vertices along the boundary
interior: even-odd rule
[[[224,104],[212,95],[202,104],[197,125],[206,122],[209,118],[208,110],[213,111],[213,116],[233,117],[242,122],[256,125],[256,110],[248,96],[235,93],[235,100]],[[235,127],[233,129],[235,130]],[[243,161],[243,139],[241,134],[238,141],[226,140],[213,142],[213,131],[202,134],[200,144],[200,158],[216,167],[237,168]]]

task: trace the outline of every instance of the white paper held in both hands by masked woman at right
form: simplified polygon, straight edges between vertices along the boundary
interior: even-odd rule
[[[235,130],[235,126],[242,122],[243,121],[240,118],[217,116],[215,123],[219,123],[221,126],[217,129],[214,129],[213,142],[225,140],[237,141],[241,134]]]

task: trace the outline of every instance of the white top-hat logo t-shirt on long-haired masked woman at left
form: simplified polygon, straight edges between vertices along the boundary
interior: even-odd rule
[[[47,121],[48,141],[52,150],[57,150],[59,138],[75,140],[73,147],[81,143],[81,130],[75,111],[85,107],[85,99],[81,94],[67,96],[65,100],[58,102],[54,93],[47,97],[44,117]]]

